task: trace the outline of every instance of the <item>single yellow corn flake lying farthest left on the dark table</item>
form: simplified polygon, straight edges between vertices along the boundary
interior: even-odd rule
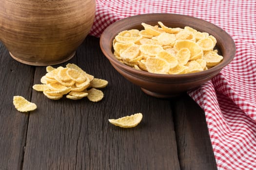
[[[37,109],[37,105],[33,102],[28,102],[22,96],[14,96],[13,104],[15,108],[20,112],[30,112]]]

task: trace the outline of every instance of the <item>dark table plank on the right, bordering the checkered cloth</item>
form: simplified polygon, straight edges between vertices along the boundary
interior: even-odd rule
[[[203,110],[188,95],[172,103],[181,170],[217,170]]]

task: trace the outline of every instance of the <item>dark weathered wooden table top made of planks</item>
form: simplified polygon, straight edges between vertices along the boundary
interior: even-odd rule
[[[108,80],[100,102],[47,99],[32,89],[45,67],[21,64],[0,44],[0,170],[216,170],[203,110],[187,94],[157,99],[124,79],[87,36],[75,63]],[[57,67],[57,66],[55,66]],[[13,96],[35,102],[20,113]],[[108,122],[141,112],[135,128]]]

